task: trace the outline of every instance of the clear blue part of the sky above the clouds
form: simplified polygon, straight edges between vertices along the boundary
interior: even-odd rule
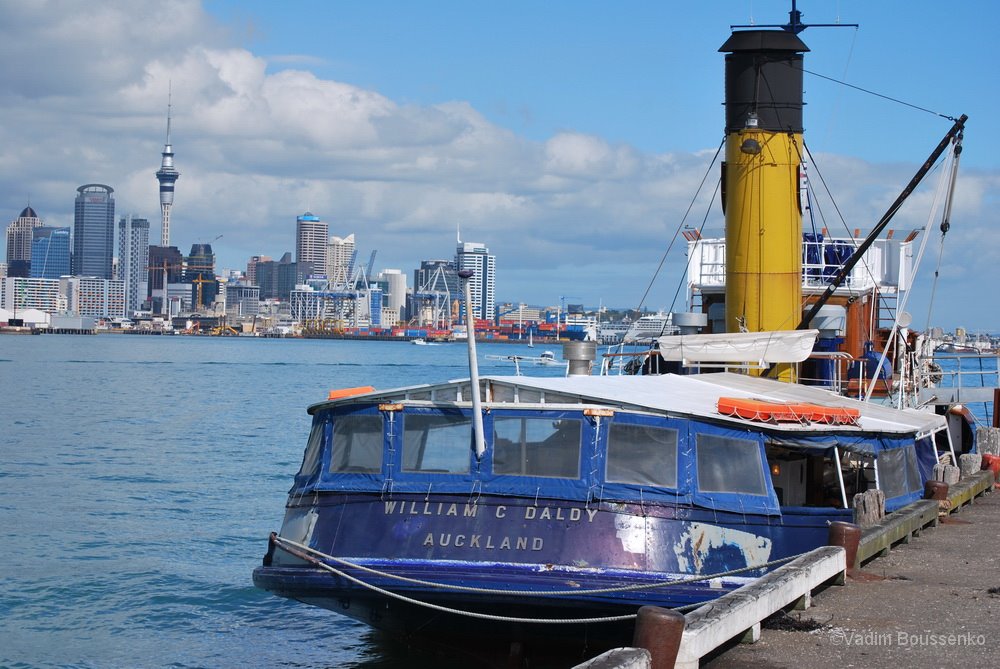
[[[860,24],[804,31],[808,70],[942,114],[966,113],[983,128],[1000,104],[1000,77],[989,67],[1000,3],[802,0],[798,7],[807,24]],[[785,23],[790,2],[210,0],[206,8],[271,60],[272,71],[305,67],[403,104],[465,100],[538,141],[572,130],[665,152],[714,146],[722,127],[717,49],[729,25]],[[810,141],[820,148],[842,131],[840,150],[866,159],[922,160],[933,133],[948,127],[818,77],[807,76],[806,98]],[[989,141],[971,143],[963,160],[995,160],[996,140]]]

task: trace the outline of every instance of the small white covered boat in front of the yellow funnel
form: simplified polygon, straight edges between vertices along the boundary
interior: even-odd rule
[[[819,330],[727,332],[659,337],[664,360],[683,362],[802,362]]]

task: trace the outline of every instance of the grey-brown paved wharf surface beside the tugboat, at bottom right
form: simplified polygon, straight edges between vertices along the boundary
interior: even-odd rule
[[[986,494],[702,667],[1000,666],[1000,493]]]

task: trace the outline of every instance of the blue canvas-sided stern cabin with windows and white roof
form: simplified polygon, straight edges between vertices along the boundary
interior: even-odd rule
[[[854,495],[868,489],[883,490],[889,511],[919,499],[937,462],[932,435],[945,429],[933,414],[729,373],[482,383],[480,459],[467,380],[310,407],[291,494],[513,495],[850,519]],[[740,401],[811,408],[732,412]]]

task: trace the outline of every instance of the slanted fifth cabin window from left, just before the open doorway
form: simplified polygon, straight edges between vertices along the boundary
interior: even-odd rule
[[[699,434],[697,462],[698,489],[702,492],[767,494],[756,441]]]

